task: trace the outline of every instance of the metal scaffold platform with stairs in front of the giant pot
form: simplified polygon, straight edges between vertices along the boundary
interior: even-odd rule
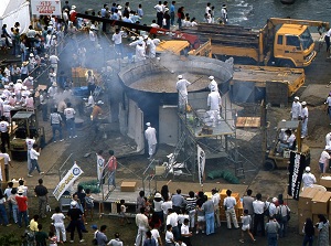
[[[228,94],[222,95],[221,119],[215,126],[207,122],[204,117],[206,108],[206,96],[202,99],[200,95],[189,94],[190,111],[179,113],[179,136],[180,140],[175,147],[177,162],[185,163],[192,178],[196,177],[197,171],[197,146],[204,150],[205,160],[213,160],[222,169],[220,160],[231,163],[231,169],[237,178],[245,177],[245,165],[247,160],[239,153],[236,139],[236,109],[232,107]],[[177,151],[178,150],[178,151]],[[181,157],[181,158],[179,158]],[[183,161],[181,160],[183,159]],[[181,161],[180,161],[181,160]],[[224,161],[222,161],[224,163]]]

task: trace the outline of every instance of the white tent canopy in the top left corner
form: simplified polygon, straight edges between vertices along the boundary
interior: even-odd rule
[[[20,22],[20,33],[28,31],[30,25],[30,3],[26,0],[0,0],[0,26],[7,24],[7,31]]]

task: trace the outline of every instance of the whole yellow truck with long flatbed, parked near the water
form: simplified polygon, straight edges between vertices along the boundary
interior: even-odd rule
[[[307,67],[317,55],[309,26],[329,30],[329,22],[270,18],[260,30],[238,25],[199,24],[183,32],[212,41],[212,53],[257,65]]]

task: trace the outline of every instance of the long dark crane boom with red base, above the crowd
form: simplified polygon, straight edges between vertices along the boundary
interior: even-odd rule
[[[124,26],[127,29],[146,31],[146,32],[149,32],[150,34],[154,34],[154,35],[169,35],[175,40],[186,40],[190,42],[190,44],[193,49],[197,49],[200,46],[200,41],[196,35],[182,33],[180,31],[170,31],[167,29],[152,28],[152,26],[148,26],[148,25],[129,23],[129,22],[124,22],[124,21],[118,21],[118,20],[110,20],[110,19],[99,18],[99,17],[83,14],[83,13],[77,13],[77,12],[74,14],[75,14],[75,18],[83,18],[83,19],[88,19],[88,20],[97,21],[97,22],[106,22],[106,23],[109,23],[110,25],[118,25],[118,26]]]

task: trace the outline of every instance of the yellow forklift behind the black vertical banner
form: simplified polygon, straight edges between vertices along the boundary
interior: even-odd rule
[[[291,130],[296,135],[292,148],[281,148],[280,136],[285,132],[285,130]],[[290,151],[303,154],[306,157],[306,165],[310,164],[310,149],[307,145],[302,143],[300,120],[282,120],[278,122],[276,139],[266,151],[265,169],[270,171],[276,168],[288,168]]]

